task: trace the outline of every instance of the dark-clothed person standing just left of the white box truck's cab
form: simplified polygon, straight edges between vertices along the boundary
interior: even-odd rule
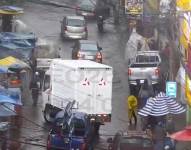
[[[38,102],[39,86],[35,78],[30,83],[30,90],[33,99],[33,106],[36,106]]]

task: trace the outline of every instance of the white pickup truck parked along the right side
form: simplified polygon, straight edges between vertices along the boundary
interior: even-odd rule
[[[159,51],[139,51],[135,58],[129,61],[128,79],[130,87],[142,83],[150,77],[152,84],[160,82],[161,57]]]

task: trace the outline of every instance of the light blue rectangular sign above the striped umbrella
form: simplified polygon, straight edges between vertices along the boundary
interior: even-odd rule
[[[166,82],[166,95],[169,97],[176,98],[177,84],[176,82]]]

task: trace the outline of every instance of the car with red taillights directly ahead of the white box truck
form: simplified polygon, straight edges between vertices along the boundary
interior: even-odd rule
[[[102,63],[102,48],[96,41],[79,40],[72,50],[72,59],[86,59]]]

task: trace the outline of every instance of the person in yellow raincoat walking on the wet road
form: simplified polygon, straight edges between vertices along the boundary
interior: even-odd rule
[[[135,126],[137,125],[137,98],[134,95],[130,95],[127,98],[128,117],[129,124],[132,125],[132,118],[134,118]]]

